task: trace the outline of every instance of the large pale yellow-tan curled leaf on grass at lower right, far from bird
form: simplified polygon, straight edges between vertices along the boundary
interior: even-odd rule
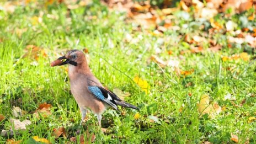
[[[221,112],[221,106],[217,103],[210,104],[210,97],[208,95],[202,95],[198,104],[198,111],[202,114],[209,114],[210,118],[214,119]]]

